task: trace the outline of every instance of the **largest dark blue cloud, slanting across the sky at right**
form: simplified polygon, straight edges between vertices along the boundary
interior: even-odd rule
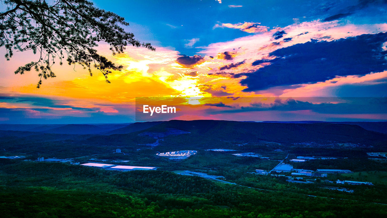
[[[270,62],[269,66],[247,76],[244,91],[258,91],[276,86],[289,86],[326,81],[336,76],[365,75],[387,70],[387,51],[382,44],[387,33],[365,34],[332,42],[307,42],[271,52],[272,60],[257,60],[252,65]]]

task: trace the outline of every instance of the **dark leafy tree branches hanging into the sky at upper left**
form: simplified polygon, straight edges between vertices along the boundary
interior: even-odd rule
[[[10,60],[14,50],[32,50],[39,59],[19,67],[15,74],[35,69],[42,78],[55,77],[51,70],[55,60],[69,65],[78,63],[92,76],[91,67],[99,69],[106,82],[112,70],[120,71],[95,49],[98,42],[110,45],[113,55],[125,50],[125,46],[145,47],[155,50],[150,43],[140,43],[133,33],[126,32],[128,26],[123,17],[94,7],[86,0],[0,0],[7,9],[0,14],[0,47],[7,50],[5,58]]]

